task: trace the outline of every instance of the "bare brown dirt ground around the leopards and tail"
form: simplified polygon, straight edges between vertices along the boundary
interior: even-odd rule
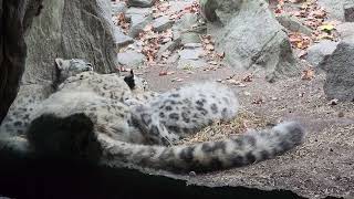
[[[192,81],[220,81],[233,75],[233,80],[241,81],[250,74],[225,66],[216,71],[168,69],[175,73],[159,76],[163,70],[152,66],[139,72],[154,91],[166,91]],[[176,77],[183,81],[173,82]],[[354,103],[331,105],[323,92],[324,78],[324,74],[316,72],[311,81],[298,75],[268,83],[264,75],[253,74],[251,82],[242,82],[241,86],[229,84],[237,91],[243,111],[275,123],[299,121],[308,130],[306,142],[274,159],[186,177],[188,184],[283,189],[309,198],[354,197]]]

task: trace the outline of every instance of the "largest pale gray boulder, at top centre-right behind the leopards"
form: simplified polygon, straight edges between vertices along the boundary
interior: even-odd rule
[[[219,1],[220,9],[215,10],[218,23],[208,29],[217,48],[225,50],[226,61],[237,69],[266,69],[269,81],[294,74],[298,70],[291,44],[268,3],[249,0],[230,6],[230,2]]]

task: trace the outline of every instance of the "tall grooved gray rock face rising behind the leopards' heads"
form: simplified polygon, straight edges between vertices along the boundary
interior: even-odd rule
[[[116,66],[115,38],[110,1],[44,0],[25,40],[29,48],[23,83],[52,81],[54,59],[84,59],[95,71]]]

